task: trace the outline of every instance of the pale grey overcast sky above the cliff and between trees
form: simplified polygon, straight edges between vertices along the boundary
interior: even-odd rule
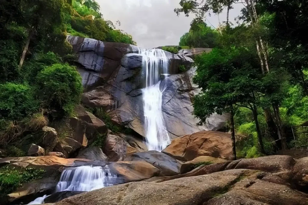
[[[180,0],[96,0],[99,2],[105,20],[114,24],[118,20],[121,26],[117,28],[132,34],[138,46],[154,48],[163,45],[178,45],[180,37],[188,32],[193,16],[179,17],[174,8],[179,7]],[[243,7],[236,4],[230,12],[230,21],[240,14]],[[226,21],[226,12],[219,15],[220,22]],[[218,16],[207,16],[206,23],[217,27]],[[210,23],[209,23],[210,22]]]

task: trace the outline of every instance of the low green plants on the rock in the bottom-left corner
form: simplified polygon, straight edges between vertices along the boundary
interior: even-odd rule
[[[27,167],[16,168],[4,166],[0,168],[0,196],[4,196],[21,187],[23,183],[40,178],[45,171],[43,169]]]

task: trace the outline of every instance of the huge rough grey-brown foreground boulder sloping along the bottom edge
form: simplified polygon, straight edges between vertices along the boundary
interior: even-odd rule
[[[56,205],[197,205],[213,198],[217,191],[227,190],[243,176],[254,172],[228,170],[161,183],[132,182],[75,195]]]

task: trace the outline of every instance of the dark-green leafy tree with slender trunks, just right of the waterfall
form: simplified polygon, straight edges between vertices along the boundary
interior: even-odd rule
[[[203,91],[194,100],[194,115],[200,119],[199,125],[214,112],[230,112],[234,135],[233,106],[249,108],[256,123],[260,150],[265,153],[257,113],[260,100],[256,94],[262,82],[256,56],[243,48],[213,49],[198,56],[195,62],[197,74],[193,81]]]

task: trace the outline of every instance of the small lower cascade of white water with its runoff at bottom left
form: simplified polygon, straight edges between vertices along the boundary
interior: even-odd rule
[[[92,191],[112,186],[116,175],[104,171],[101,167],[81,166],[68,168],[61,174],[56,192],[60,191]],[[47,195],[39,197],[28,204],[42,204]]]

